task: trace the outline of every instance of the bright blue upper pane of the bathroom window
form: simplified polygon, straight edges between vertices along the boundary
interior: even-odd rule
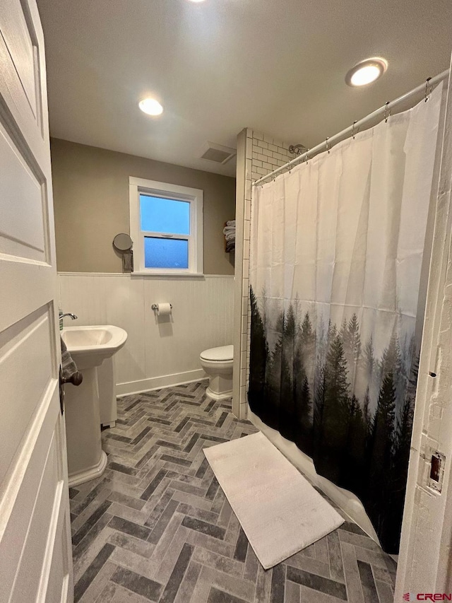
[[[189,201],[140,195],[141,230],[151,233],[190,234]]]

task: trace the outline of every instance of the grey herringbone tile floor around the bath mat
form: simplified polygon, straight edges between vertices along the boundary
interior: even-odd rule
[[[119,399],[105,473],[70,491],[76,602],[392,603],[396,563],[350,521],[263,570],[203,455],[256,428],[205,390]]]

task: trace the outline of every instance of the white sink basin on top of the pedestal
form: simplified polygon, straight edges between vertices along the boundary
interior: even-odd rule
[[[65,327],[61,337],[79,370],[100,366],[120,350],[127,340],[121,327],[102,324],[93,327]]]

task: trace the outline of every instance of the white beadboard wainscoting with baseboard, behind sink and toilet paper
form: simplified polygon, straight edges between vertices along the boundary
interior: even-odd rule
[[[232,344],[233,276],[60,272],[59,295],[74,325],[116,324],[129,334],[116,356],[118,395],[202,379],[201,351]],[[164,302],[172,317],[157,319],[151,305]]]

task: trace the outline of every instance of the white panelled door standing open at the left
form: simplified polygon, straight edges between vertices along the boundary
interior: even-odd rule
[[[2,603],[73,600],[56,295],[42,28],[35,0],[0,0]]]

